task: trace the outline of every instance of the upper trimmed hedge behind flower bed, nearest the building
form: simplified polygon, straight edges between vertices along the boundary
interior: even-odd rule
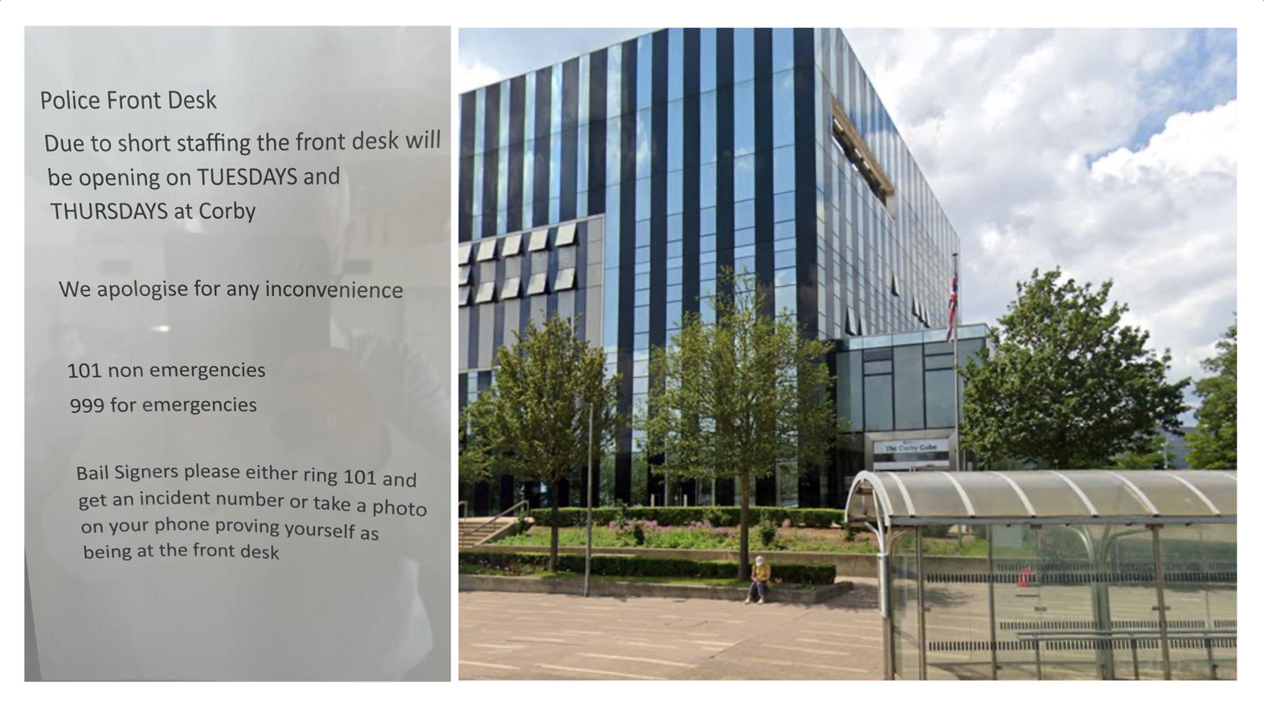
[[[531,518],[536,526],[547,527],[552,521],[551,509],[532,509]],[[614,507],[593,509],[593,523],[608,524],[618,517]],[[739,507],[624,507],[623,515],[628,519],[652,519],[661,527],[684,527],[703,519],[717,527],[736,527]],[[842,509],[813,509],[790,507],[751,507],[751,526],[767,518],[777,526],[790,519],[790,526],[804,528],[829,528],[830,524],[843,526],[846,513]],[[588,521],[588,510],[583,507],[564,507],[557,510],[562,527],[581,527]]]

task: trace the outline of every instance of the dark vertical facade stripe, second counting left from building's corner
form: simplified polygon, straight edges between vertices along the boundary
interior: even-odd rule
[[[772,30],[755,30],[755,280],[760,313],[776,313],[772,294]],[[776,474],[755,481],[761,507],[776,505]]]

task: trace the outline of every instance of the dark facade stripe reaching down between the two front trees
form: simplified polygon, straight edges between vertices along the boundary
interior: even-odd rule
[[[636,286],[636,39],[624,42],[623,119],[619,120],[619,406],[623,418],[632,418],[632,328]],[[614,498],[632,503],[632,428],[619,430],[614,459]]]

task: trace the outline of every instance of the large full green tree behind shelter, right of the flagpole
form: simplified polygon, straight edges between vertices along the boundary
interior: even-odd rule
[[[1178,431],[1188,379],[1167,382],[1172,355],[1120,325],[1111,282],[1095,288],[1060,269],[1018,283],[966,378],[962,445],[983,462],[1011,457],[1053,467],[1093,467],[1145,452],[1159,428]]]

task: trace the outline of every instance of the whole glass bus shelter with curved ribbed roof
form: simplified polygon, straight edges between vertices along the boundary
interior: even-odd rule
[[[1237,677],[1237,473],[861,473],[886,677]]]

